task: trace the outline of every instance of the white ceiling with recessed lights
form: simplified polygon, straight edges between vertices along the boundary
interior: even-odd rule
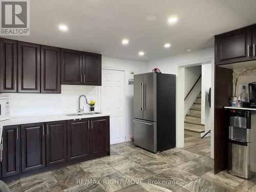
[[[5,37],[148,61],[213,46],[214,35],[256,23],[255,10],[255,0],[31,0],[30,36]],[[178,22],[168,25],[169,16]]]

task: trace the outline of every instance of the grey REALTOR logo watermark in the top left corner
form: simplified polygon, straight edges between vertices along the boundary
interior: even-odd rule
[[[30,35],[29,0],[0,0],[0,35]]]

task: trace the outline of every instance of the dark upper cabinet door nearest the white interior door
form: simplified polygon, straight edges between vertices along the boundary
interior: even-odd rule
[[[83,53],[83,84],[101,86],[101,55]]]

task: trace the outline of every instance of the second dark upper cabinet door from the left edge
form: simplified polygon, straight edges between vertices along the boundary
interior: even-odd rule
[[[40,93],[40,45],[18,41],[18,92]]]

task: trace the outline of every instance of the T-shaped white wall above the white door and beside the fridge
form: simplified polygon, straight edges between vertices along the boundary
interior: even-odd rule
[[[133,74],[144,73],[146,63],[143,61],[118,59],[112,57],[102,57],[102,69],[113,69],[125,71],[125,97],[126,97],[126,129],[127,140],[133,136],[133,86],[128,85],[128,80],[133,78]]]

